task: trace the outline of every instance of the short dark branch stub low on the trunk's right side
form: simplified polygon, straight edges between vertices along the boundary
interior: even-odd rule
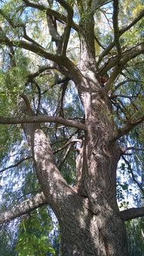
[[[139,208],[131,208],[120,212],[120,218],[122,220],[132,220],[135,218],[143,217],[144,216],[144,207]]]

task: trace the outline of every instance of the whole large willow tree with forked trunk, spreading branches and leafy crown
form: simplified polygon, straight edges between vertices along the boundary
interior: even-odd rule
[[[144,216],[144,209],[119,211],[116,169],[122,156],[132,178],[143,189],[124,156],[129,154],[127,150],[142,149],[136,147],[134,136],[132,147],[125,147],[132,130],[142,132],[144,120],[142,1],[10,0],[3,1],[0,15],[5,93],[6,97],[20,99],[19,111],[14,99],[7,113],[1,109],[7,117],[1,116],[0,124],[21,124],[17,129],[26,135],[42,189],[1,213],[0,222],[48,204],[60,222],[63,256],[127,255],[124,221]],[[49,34],[44,35],[46,26]],[[29,61],[24,64],[22,56],[28,56]],[[25,73],[22,65],[27,65]],[[102,84],[100,77],[104,74],[109,79]],[[70,84],[76,86],[83,116],[76,116],[74,104],[70,106],[73,112],[67,111]],[[54,86],[60,88],[61,95],[58,108],[48,115],[47,92]],[[51,127],[57,142],[62,143],[57,153],[65,152],[61,164],[46,132]],[[76,157],[72,184],[59,168],[70,150]],[[66,166],[69,168],[69,163]]]

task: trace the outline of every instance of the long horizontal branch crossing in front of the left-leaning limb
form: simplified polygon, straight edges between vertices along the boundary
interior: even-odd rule
[[[31,124],[31,123],[56,123],[63,124],[68,127],[75,127],[86,131],[86,125],[76,120],[69,120],[58,116],[26,116],[26,118],[21,117],[10,117],[4,118],[0,117],[1,124]]]

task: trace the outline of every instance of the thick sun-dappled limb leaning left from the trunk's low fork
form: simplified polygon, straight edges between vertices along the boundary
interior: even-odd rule
[[[35,116],[28,99],[22,95],[20,102],[20,111],[23,115]],[[69,197],[76,195],[74,190],[68,186],[58,170],[52,154],[51,145],[47,136],[42,131],[40,124],[23,124],[22,128],[26,134],[26,138],[31,147],[35,162],[35,170],[42,191],[52,210],[59,214],[63,214],[64,207],[70,204]]]

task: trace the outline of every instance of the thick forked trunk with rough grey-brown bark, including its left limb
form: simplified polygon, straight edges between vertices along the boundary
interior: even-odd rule
[[[96,79],[96,78],[95,78]],[[86,127],[79,180],[73,189],[56,167],[49,140],[38,124],[24,125],[38,180],[61,230],[63,256],[127,255],[125,227],[116,203],[116,167],[120,149],[110,143],[113,118],[109,101],[88,77],[80,88]],[[28,106],[27,106],[28,108]],[[33,115],[32,111],[25,111]]]

